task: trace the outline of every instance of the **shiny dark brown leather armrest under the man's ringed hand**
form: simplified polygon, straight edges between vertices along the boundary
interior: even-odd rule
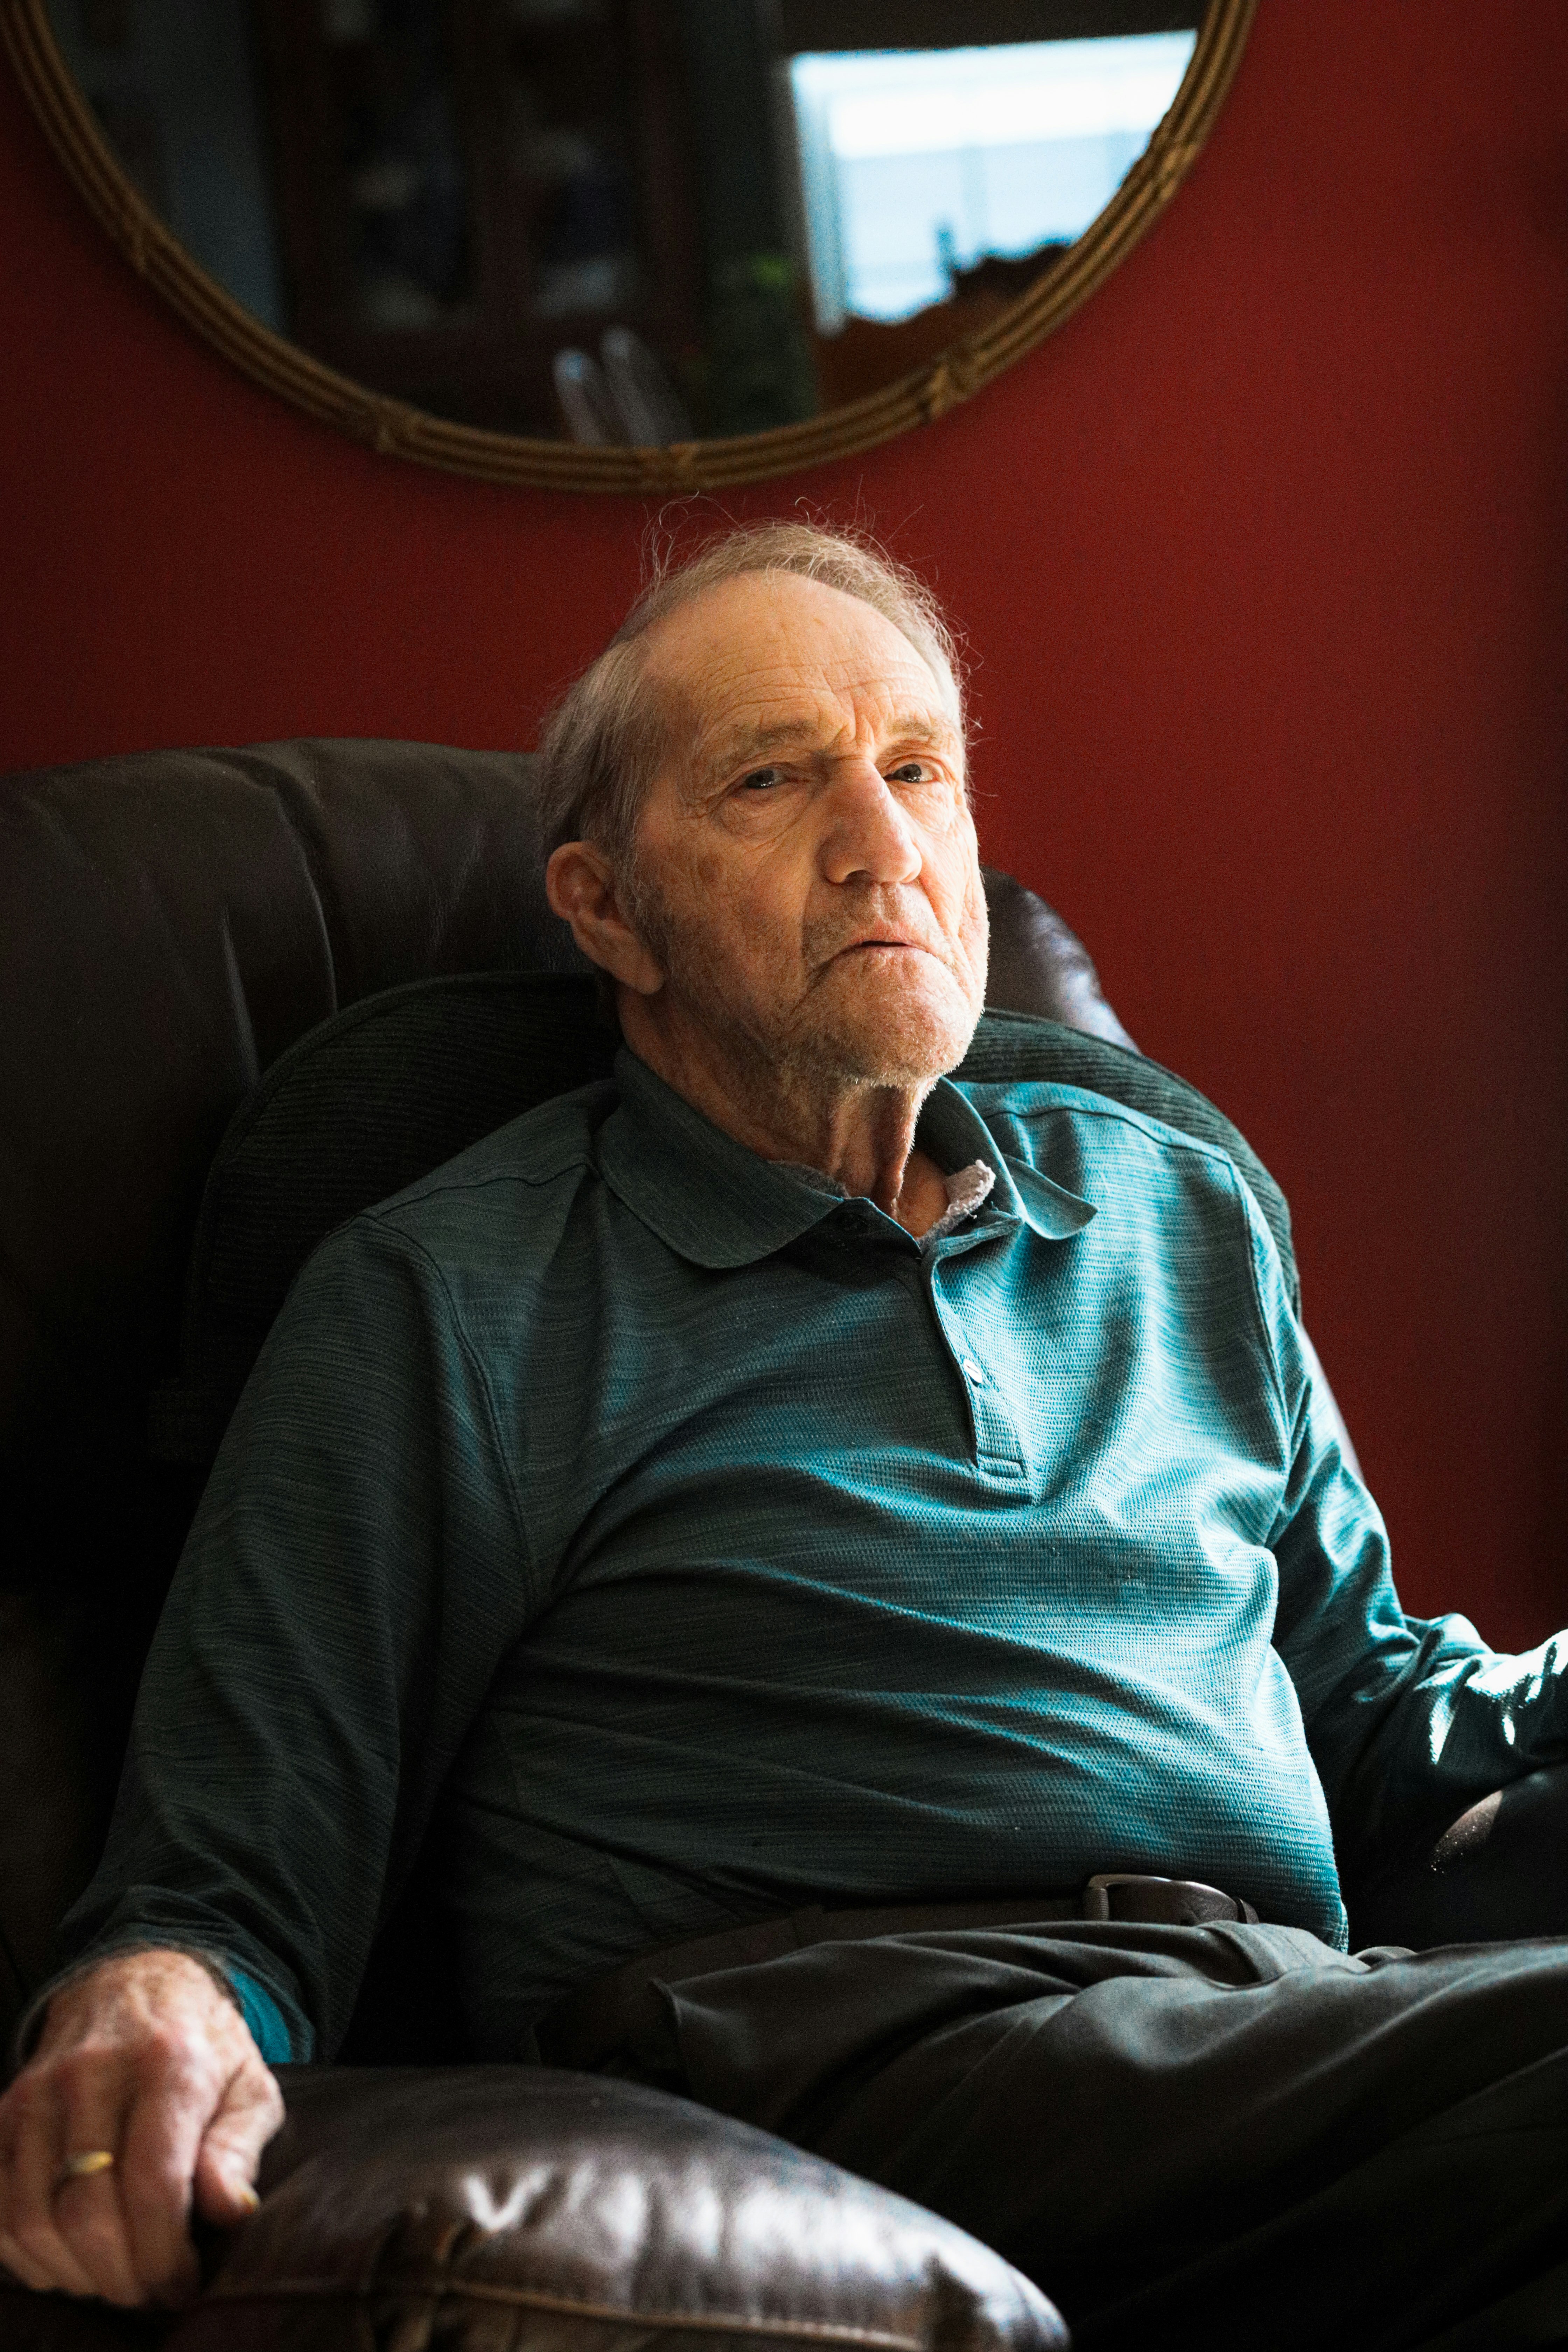
[[[966,2232],[750,2124],[548,2067],[284,2067],[261,2211],[162,2321],[5,2296],[14,2352],[1058,2352]]]

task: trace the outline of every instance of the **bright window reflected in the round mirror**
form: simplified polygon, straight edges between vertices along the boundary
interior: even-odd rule
[[[818,334],[903,320],[961,270],[1072,242],[1171,106],[1197,33],[788,64]]]

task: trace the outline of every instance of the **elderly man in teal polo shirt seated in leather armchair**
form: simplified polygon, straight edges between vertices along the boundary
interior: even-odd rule
[[[179,2298],[423,1853],[477,2053],[891,2183],[1084,2345],[1547,2340],[1568,1964],[1347,1957],[1335,1842],[1559,1759],[1559,1656],[1401,1616],[1222,1152],[943,1077],[985,898],[933,604],[717,543],[545,802],[614,1084],[296,1282],[0,2105],[0,2256]]]

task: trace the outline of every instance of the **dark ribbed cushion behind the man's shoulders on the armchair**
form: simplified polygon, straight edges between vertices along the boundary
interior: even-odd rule
[[[592,981],[470,974],[355,1004],[273,1063],[216,1152],[190,1261],[181,1376],[153,1395],[153,1451],[207,1463],[289,1282],[334,1225],[505,1120],[604,1077],[616,1040]],[[1291,1282],[1291,1214],[1246,1138],[1140,1054],[1025,1014],[987,1014],[964,1077],[1088,1087],[1241,1164]]]

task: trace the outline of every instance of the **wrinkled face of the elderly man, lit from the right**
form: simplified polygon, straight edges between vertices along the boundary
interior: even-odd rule
[[[922,1084],[985,1002],[964,743],[870,604],[726,581],[649,633],[670,755],[637,828],[635,915],[682,1018],[748,1063]]]

